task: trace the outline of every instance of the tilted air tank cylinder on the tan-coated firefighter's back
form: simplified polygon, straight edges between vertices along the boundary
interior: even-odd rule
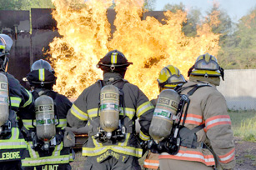
[[[166,89],[159,94],[149,127],[149,135],[156,143],[162,141],[163,138],[168,138],[170,135],[179,101],[178,92],[174,90]]]

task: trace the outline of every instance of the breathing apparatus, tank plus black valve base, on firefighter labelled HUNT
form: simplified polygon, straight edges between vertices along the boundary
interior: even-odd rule
[[[56,112],[53,98],[42,94],[35,100],[36,112],[36,128],[32,133],[33,149],[38,151],[49,152],[50,148],[55,148],[56,145],[63,141],[63,132],[57,132],[59,124],[58,114]]]

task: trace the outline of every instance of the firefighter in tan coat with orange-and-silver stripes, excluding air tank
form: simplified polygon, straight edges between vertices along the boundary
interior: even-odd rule
[[[159,155],[161,169],[232,169],[235,166],[233,131],[225,98],[218,92],[223,68],[216,57],[199,56],[188,71],[189,82],[177,92],[188,97],[179,130],[178,153]]]

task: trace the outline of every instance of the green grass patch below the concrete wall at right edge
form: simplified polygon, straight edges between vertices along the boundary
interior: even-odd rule
[[[256,111],[229,111],[233,134],[256,143]]]

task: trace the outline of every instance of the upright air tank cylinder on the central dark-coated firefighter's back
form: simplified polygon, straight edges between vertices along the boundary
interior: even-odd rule
[[[118,128],[119,90],[113,85],[104,86],[100,92],[100,127],[107,133]]]

